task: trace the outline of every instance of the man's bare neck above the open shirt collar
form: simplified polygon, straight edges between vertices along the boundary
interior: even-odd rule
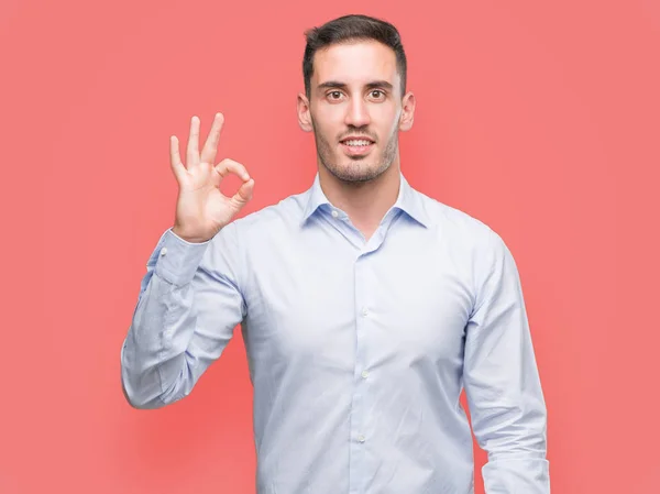
[[[398,198],[399,174],[399,163],[395,160],[384,173],[372,180],[344,182],[319,164],[319,184],[323,194],[332,206],[349,215],[351,222],[367,239]]]

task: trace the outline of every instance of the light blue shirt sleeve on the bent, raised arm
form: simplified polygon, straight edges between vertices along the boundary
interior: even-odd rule
[[[172,229],[148,259],[121,349],[124,396],[160,408],[187,396],[244,319],[235,223],[204,243]]]

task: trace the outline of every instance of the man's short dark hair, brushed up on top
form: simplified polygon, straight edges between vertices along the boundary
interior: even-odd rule
[[[310,81],[314,74],[314,55],[318,50],[332,44],[374,40],[389,46],[396,55],[396,67],[402,78],[402,96],[406,94],[406,53],[397,29],[389,22],[367,15],[352,14],[334,19],[305,32],[307,45],[302,57],[305,94],[310,97]]]

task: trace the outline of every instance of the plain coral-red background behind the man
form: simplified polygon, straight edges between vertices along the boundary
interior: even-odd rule
[[[516,257],[552,491],[660,492],[659,3],[363,6],[2,1],[0,492],[254,492],[240,332],[160,410],[125,403],[120,348],[174,217],[169,135],[224,113],[219,158],[256,180],[243,215],[305,190],[302,32],[355,12],[403,35],[405,175]]]

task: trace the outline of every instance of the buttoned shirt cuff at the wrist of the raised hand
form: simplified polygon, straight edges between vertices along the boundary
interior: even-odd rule
[[[172,283],[184,286],[193,281],[210,240],[188,242],[168,229],[158,242],[155,274]]]

